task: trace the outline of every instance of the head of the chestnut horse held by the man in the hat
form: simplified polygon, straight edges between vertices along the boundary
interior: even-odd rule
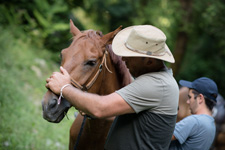
[[[75,87],[98,93],[100,86],[94,85],[102,82],[99,69],[105,63],[106,47],[111,44],[112,39],[120,30],[121,27],[106,35],[93,30],[81,32],[70,20],[73,41],[68,48],[61,51],[61,66],[68,71],[71,83]],[[59,95],[48,90],[42,100],[43,118],[49,122],[60,122],[71,107],[71,104],[64,98],[58,104],[58,97]]]

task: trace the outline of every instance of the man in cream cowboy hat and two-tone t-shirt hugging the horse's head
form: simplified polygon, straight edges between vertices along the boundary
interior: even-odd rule
[[[172,70],[164,64],[175,62],[165,34],[151,25],[127,27],[113,39],[112,50],[122,56],[135,78],[127,86],[103,96],[83,92],[72,86],[70,74],[60,67],[60,72],[46,80],[46,88],[91,117],[116,116],[105,150],[168,149],[179,88]]]

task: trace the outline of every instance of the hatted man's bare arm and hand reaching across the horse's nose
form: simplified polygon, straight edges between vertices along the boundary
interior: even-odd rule
[[[64,68],[54,72],[46,80],[46,87],[59,94],[65,84],[70,84],[70,76]],[[106,96],[83,92],[73,86],[63,89],[63,96],[78,110],[96,118],[108,118],[126,113],[134,113],[130,105],[117,93]]]

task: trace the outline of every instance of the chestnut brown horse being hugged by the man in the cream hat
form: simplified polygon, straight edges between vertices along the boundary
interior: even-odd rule
[[[61,66],[71,76],[71,84],[83,91],[99,95],[110,94],[131,83],[132,77],[122,58],[111,49],[114,36],[121,26],[105,35],[100,31],[80,31],[70,20],[73,35],[71,45],[61,51]],[[42,100],[43,118],[59,123],[71,108],[71,104],[48,90]],[[70,128],[69,149],[104,149],[108,130],[114,118],[85,119],[80,113]],[[82,132],[81,132],[82,131]]]

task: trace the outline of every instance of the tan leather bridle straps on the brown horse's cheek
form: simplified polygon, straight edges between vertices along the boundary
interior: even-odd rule
[[[88,80],[87,80],[87,83],[84,83],[83,85],[80,85],[76,80],[74,80],[73,78],[71,78],[71,84],[72,84],[74,87],[76,87],[76,88],[78,88],[78,89],[80,89],[80,90],[82,90],[82,91],[88,91],[88,90],[92,87],[92,85],[95,83],[95,81],[96,81],[96,79],[98,78],[99,74],[102,72],[103,65],[105,65],[106,69],[107,69],[110,73],[112,73],[112,72],[108,69],[107,64],[106,64],[106,57],[107,57],[107,54],[108,54],[107,49],[108,49],[108,46],[106,46],[106,50],[105,50],[105,52],[104,52],[104,54],[103,54],[102,61],[101,61],[100,65],[99,65],[99,67],[98,67],[97,72],[94,74],[93,78],[92,78],[90,81],[89,81],[89,79],[88,79]],[[88,82],[88,81],[89,81],[89,82]]]

